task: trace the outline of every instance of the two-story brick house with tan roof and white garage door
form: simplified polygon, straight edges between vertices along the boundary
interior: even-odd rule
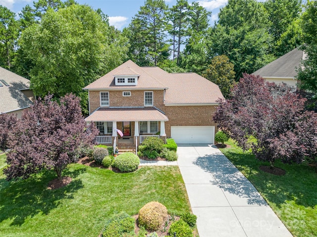
[[[219,87],[195,73],[169,74],[131,60],[84,88],[99,143],[140,144],[147,136],[177,143],[213,143]],[[117,129],[123,136],[117,134]]]

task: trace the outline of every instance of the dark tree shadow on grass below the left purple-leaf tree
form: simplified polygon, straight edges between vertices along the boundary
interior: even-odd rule
[[[39,213],[49,214],[63,199],[73,198],[73,194],[83,188],[82,181],[75,178],[85,170],[66,169],[63,176],[70,176],[72,181],[56,190],[47,189],[48,183],[56,178],[54,171],[43,171],[26,180],[7,182],[0,179],[0,223],[13,219],[11,226],[22,225],[28,217]]]

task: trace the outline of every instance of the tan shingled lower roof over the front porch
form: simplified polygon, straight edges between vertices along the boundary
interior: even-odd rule
[[[86,121],[167,121],[166,115],[149,108],[99,108]]]

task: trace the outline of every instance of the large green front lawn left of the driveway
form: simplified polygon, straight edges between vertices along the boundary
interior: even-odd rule
[[[7,182],[4,166],[0,155],[0,237],[98,237],[110,215],[136,214],[150,201],[161,202],[171,213],[190,211],[177,166],[121,174],[72,164],[63,173],[72,182],[58,190],[47,189],[56,178],[53,171]]]

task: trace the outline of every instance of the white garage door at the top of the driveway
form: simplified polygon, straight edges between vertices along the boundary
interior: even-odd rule
[[[171,126],[176,143],[214,143],[214,126]]]

